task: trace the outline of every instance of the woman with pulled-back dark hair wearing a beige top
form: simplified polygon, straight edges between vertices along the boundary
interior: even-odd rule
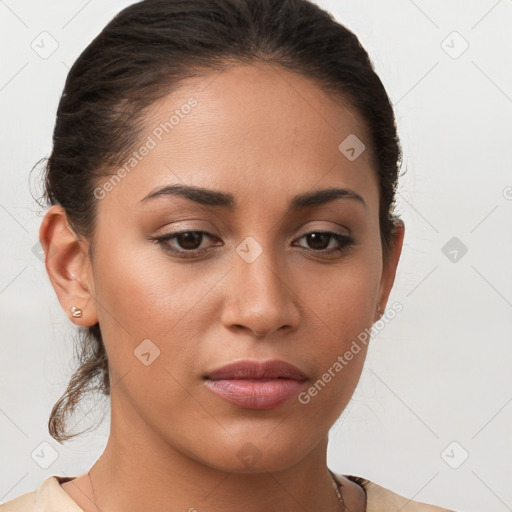
[[[144,0],[69,72],[40,228],[104,453],[3,512],[442,511],[326,464],[404,238],[356,36],[306,0]]]

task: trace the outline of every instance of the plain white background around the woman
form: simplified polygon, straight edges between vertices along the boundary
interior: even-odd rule
[[[108,412],[65,445],[47,431],[74,328],[32,252],[42,214],[29,172],[50,152],[69,67],[130,3],[0,1],[0,503],[87,471],[106,442]],[[404,309],[372,341],[329,465],[460,512],[512,510],[512,1],[317,3],[368,50],[395,105],[405,171],[388,303]],[[43,31],[59,45],[47,59],[31,47]],[[468,249],[456,262],[442,251],[452,237]],[[78,428],[101,416],[91,407]],[[42,442],[58,456],[47,469],[31,457]],[[457,469],[447,463],[466,453]]]

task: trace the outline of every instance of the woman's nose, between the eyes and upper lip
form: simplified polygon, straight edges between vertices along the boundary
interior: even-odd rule
[[[251,263],[235,254],[226,277],[221,322],[227,329],[263,337],[297,328],[299,294],[293,290],[291,269],[269,250]]]

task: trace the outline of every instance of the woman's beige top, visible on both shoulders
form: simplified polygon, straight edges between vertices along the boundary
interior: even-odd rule
[[[343,476],[365,490],[366,512],[454,512],[409,500],[364,478]],[[70,479],[56,475],[48,477],[35,491],[0,504],[0,512],[84,512],[60,485]]]

